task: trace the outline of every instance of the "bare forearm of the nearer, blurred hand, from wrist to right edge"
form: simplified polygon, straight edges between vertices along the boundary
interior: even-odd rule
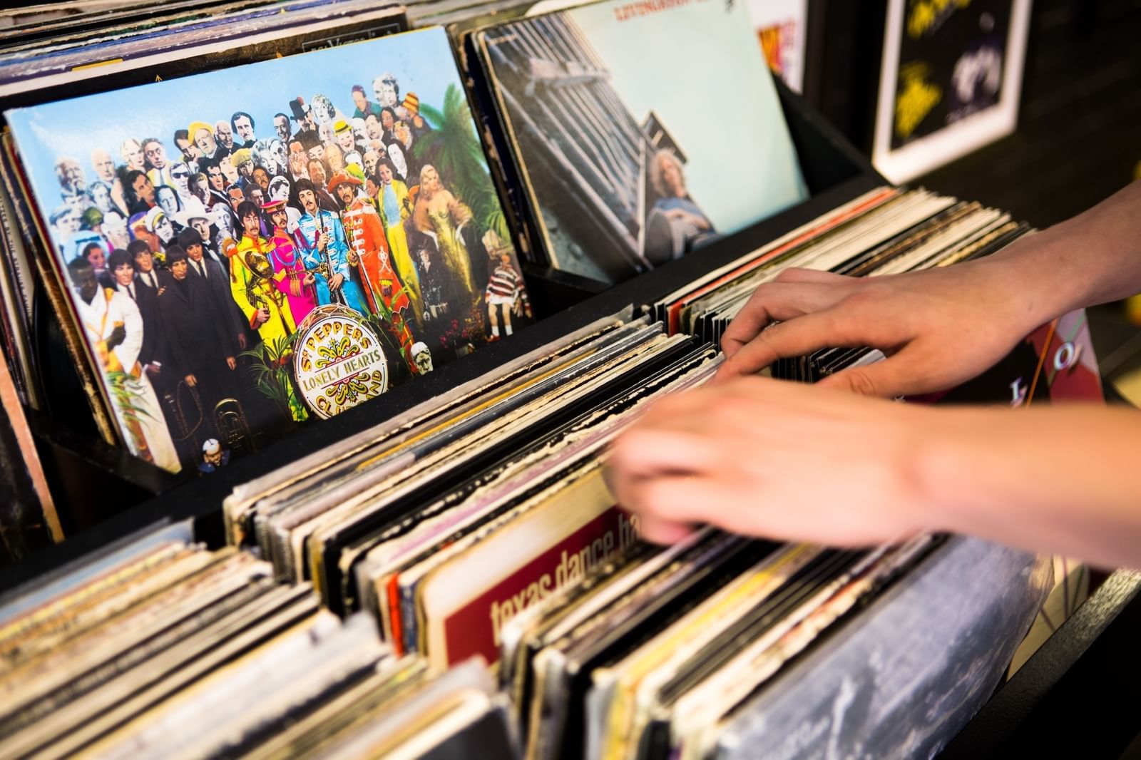
[[[1141,413],[1093,405],[924,410],[921,501],[937,529],[1141,567]]]

